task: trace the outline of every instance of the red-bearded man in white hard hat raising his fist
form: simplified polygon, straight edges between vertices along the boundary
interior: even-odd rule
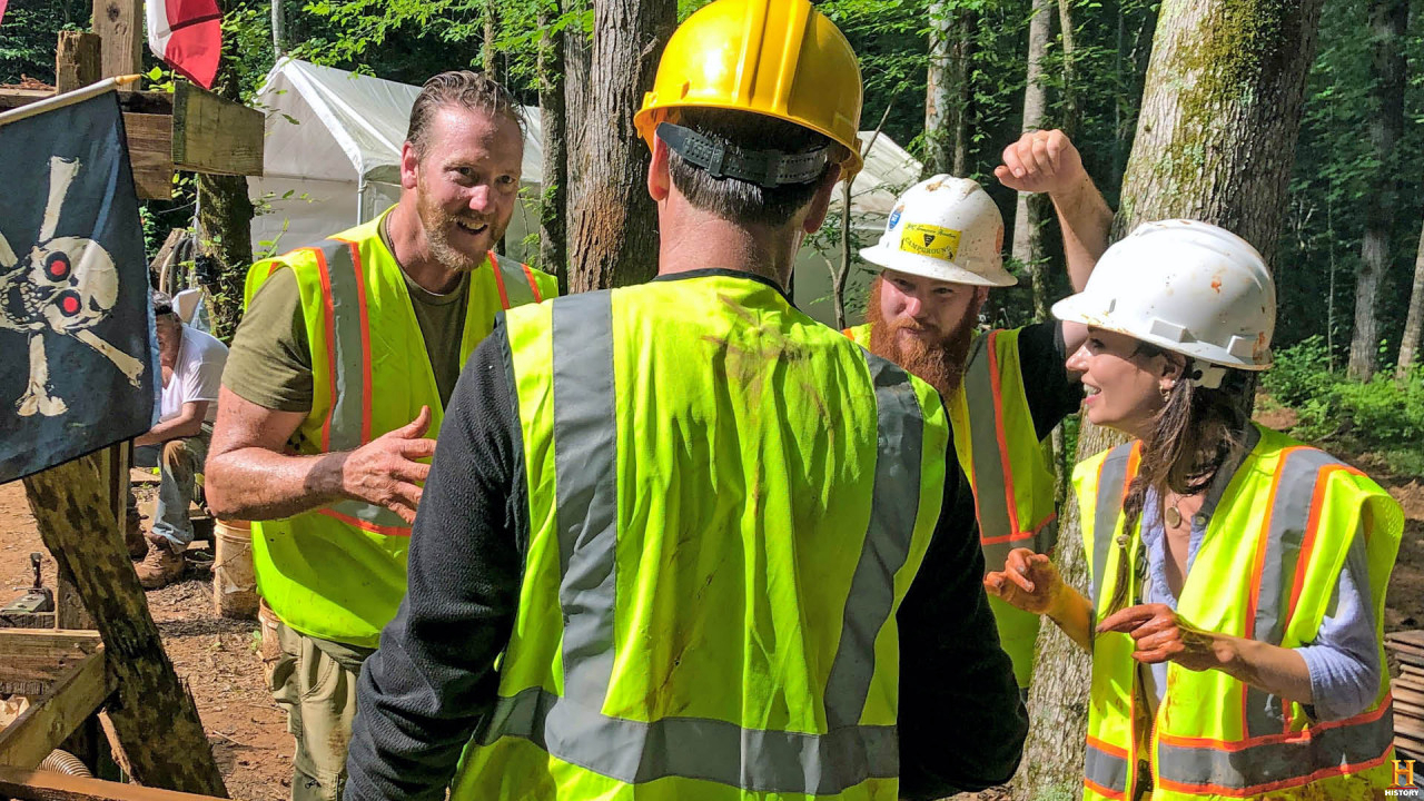
[[[998,180],[1020,192],[1048,192],[1064,231],[1068,278],[1088,282],[1106,248],[1112,212],[1061,131],[1031,131],[1004,151]],[[1057,321],[981,331],[991,286],[1017,279],[1004,269],[1004,219],[977,182],[934,175],[900,197],[880,242],[860,251],[883,272],[870,288],[866,325],[847,336],[940,391],[954,429],[960,470],[950,470],[946,506],[977,526],[984,569],[1008,552],[1047,553],[1058,539],[1054,467],[1042,440],[1082,398],[1064,368],[1087,328]],[[1000,644],[1027,694],[1038,617],[990,597]]]

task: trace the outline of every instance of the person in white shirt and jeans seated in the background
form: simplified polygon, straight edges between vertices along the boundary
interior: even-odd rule
[[[158,425],[134,440],[135,462],[158,466],[158,507],[150,529],[148,556],[138,564],[144,589],[155,590],[182,576],[182,552],[192,542],[188,505],[195,476],[208,458],[218,388],[228,346],[174,314],[172,301],[154,292],[154,328],[164,392]],[[147,459],[145,459],[147,456]]]

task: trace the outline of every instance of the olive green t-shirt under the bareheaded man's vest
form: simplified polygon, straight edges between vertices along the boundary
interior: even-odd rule
[[[384,229],[380,239],[390,248]],[[402,271],[410,291],[412,308],[426,355],[436,375],[440,402],[450,400],[460,378],[460,339],[470,298],[470,275],[460,275],[460,285],[446,295],[427,292]],[[265,409],[309,412],[312,409],[312,348],[306,336],[306,315],[296,275],[278,268],[253,295],[232,346],[222,383]]]

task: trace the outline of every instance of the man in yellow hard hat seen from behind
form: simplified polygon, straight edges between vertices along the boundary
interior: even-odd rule
[[[938,393],[786,296],[856,170],[860,74],[806,0],[718,0],[635,124],[658,278],[471,355],[346,798],[940,798],[1027,720]],[[926,574],[933,580],[917,580]],[[910,678],[913,677],[913,678]]]

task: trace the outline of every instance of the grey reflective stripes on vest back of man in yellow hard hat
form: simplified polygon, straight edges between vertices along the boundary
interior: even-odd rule
[[[611,295],[565,298],[551,318],[564,696],[530,687],[501,697],[480,744],[524,738],[625,784],[682,777],[753,792],[829,795],[899,775],[894,727],[857,721],[874,676],[874,643],[893,624],[894,576],[909,559],[920,505],[924,423],[904,371],[866,353],[879,405],[879,452],[867,536],[824,690],[829,731],[756,730],[698,717],[627,720],[600,711],[612,676],[617,596]]]

